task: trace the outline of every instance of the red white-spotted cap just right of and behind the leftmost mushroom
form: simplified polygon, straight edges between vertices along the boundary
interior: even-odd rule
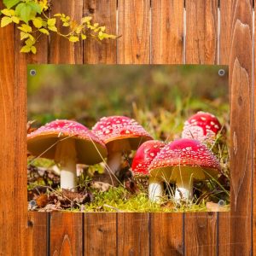
[[[125,116],[103,117],[91,131],[106,144],[108,150],[113,151],[136,150],[142,143],[153,139],[135,119]]]

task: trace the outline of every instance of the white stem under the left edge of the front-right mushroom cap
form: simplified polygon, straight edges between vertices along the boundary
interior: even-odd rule
[[[150,201],[161,201],[161,197],[164,195],[164,183],[161,179],[149,177],[148,195]]]

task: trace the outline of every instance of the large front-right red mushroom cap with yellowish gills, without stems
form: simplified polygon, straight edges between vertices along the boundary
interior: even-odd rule
[[[216,177],[220,169],[217,158],[205,145],[187,138],[168,143],[148,167],[151,176],[170,182],[179,177],[205,180]]]

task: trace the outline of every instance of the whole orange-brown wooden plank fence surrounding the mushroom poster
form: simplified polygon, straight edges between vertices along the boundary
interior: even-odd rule
[[[102,44],[88,40],[73,45],[53,35],[49,40],[40,38],[37,55],[23,55],[15,26],[0,29],[0,255],[256,253],[253,1],[51,3],[53,12],[78,20],[92,15],[122,37]],[[229,64],[231,212],[27,212],[27,63]]]

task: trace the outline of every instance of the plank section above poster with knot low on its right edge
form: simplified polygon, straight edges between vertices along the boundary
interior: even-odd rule
[[[152,0],[151,63],[183,62],[183,1]]]

